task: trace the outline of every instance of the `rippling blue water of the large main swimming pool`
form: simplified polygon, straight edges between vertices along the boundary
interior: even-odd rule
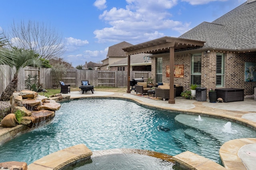
[[[229,140],[256,137],[256,132],[222,119],[159,111],[126,100],[84,99],[63,102],[54,120],[0,146],[0,162],[28,164],[52,152],[84,143],[90,150],[146,149],[176,155],[186,150],[219,162]],[[164,130],[170,129],[170,131]]]

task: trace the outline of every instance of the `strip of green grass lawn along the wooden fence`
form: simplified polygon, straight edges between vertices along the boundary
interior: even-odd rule
[[[46,89],[47,92],[44,92],[44,96],[50,97],[52,95],[60,93],[60,88],[57,89]],[[71,92],[79,91],[80,88],[70,88]],[[126,92],[127,88],[116,88],[116,87],[94,87],[95,91],[102,92]],[[40,94],[40,93],[39,93]]]

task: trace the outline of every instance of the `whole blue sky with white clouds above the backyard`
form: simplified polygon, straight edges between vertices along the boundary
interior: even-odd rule
[[[178,37],[246,0],[1,0],[0,33],[12,23],[43,22],[66,41],[60,56],[75,67],[101,63],[108,47]]]

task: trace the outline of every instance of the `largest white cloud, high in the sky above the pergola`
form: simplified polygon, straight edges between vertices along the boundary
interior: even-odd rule
[[[174,21],[168,11],[178,0],[126,0],[126,8],[105,10],[99,18],[110,27],[94,31],[98,42],[141,42],[164,36],[164,31],[189,30],[190,23]],[[184,29],[181,29],[184,28]],[[162,32],[163,31],[163,32]]]

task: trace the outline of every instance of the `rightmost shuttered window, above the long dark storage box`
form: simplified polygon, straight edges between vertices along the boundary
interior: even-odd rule
[[[216,87],[224,86],[224,54],[216,54]]]

